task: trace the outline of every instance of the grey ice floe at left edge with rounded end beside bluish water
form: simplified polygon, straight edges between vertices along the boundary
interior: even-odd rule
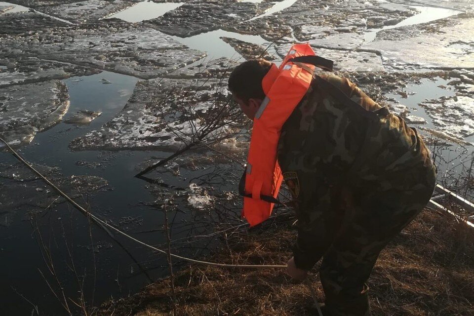
[[[29,144],[69,109],[66,85],[57,80],[0,88],[0,135],[11,145]]]

